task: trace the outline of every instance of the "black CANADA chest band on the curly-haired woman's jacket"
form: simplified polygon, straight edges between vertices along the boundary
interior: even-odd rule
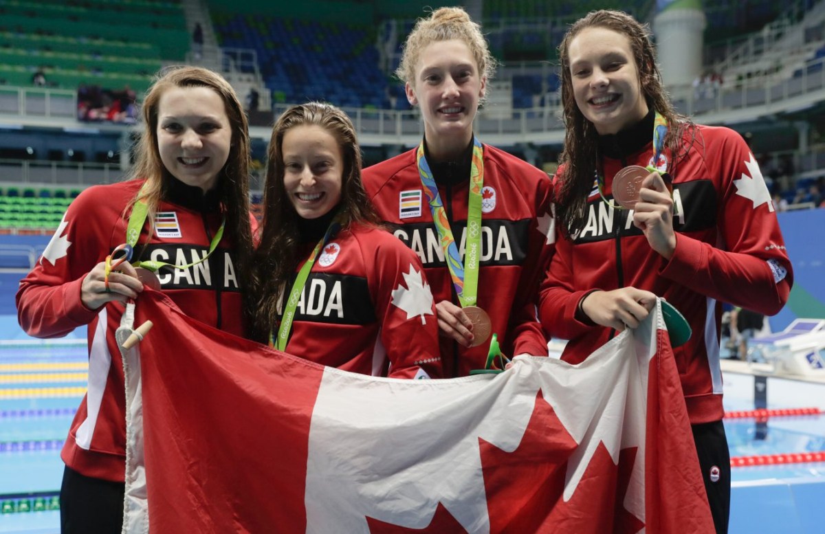
[[[467,251],[470,265],[474,265],[475,261],[480,261],[482,265],[520,265],[526,257],[527,223],[529,222],[485,221],[481,227],[480,254],[477,250],[468,251],[467,228],[464,223],[460,223],[460,234],[454,227],[453,235],[459,237],[456,245],[461,259],[464,260]],[[432,224],[406,224],[396,227],[393,233],[421,258],[425,267],[446,265],[441,239]]]

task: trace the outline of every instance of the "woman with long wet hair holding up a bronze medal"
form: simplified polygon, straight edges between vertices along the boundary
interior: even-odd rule
[[[771,196],[739,134],[673,110],[646,25],[591,12],[559,58],[566,130],[542,326],[580,363],[639,326],[657,297],[686,317],[692,335],[673,352],[710,511],[727,532],[722,302],[774,314],[787,301],[792,273]]]

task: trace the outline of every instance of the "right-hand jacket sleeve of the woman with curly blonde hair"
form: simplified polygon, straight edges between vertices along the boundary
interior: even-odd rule
[[[544,173],[542,173],[544,174]],[[550,209],[553,185],[548,176],[541,176],[536,187],[533,220],[530,222],[527,257],[519,279],[516,298],[507,330],[512,335],[512,353],[547,355],[547,340],[538,320],[539,283],[555,251],[554,219]],[[507,352],[507,348],[505,349]]]

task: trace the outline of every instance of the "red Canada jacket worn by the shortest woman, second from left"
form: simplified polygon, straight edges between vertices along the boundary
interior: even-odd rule
[[[438,321],[422,271],[389,232],[343,229],[304,283],[285,352],[376,377],[441,378]]]

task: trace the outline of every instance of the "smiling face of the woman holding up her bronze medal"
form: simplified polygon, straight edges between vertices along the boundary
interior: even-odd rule
[[[570,41],[568,55],[576,105],[599,134],[616,134],[648,114],[627,36],[592,26]]]

